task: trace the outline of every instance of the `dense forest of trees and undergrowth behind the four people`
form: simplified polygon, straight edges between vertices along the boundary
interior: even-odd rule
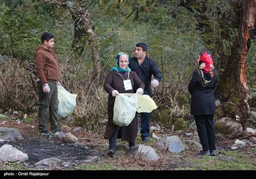
[[[136,43],[144,42],[163,73],[153,89],[152,121],[186,127],[193,118],[188,83],[198,52],[208,51],[218,72],[215,119],[228,116],[255,128],[255,9],[255,1],[0,0],[1,113],[36,120],[35,49],[42,32],[51,31],[60,81],[77,94],[76,126],[102,127],[106,73],[118,52],[133,56]]]

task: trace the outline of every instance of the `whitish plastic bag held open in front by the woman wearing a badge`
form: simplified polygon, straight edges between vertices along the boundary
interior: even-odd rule
[[[113,122],[116,125],[122,127],[131,123],[136,114],[137,97],[137,95],[126,93],[119,93],[116,96],[113,111]]]

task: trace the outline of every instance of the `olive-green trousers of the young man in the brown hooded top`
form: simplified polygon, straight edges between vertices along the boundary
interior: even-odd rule
[[[49,121],[51,130],[58,130],[58,85],[57,82],[48,82],[50,93],[44,93],[40,81],[36,82],[38,91],[38,129],[47,130],[47,116],[49,110]]]

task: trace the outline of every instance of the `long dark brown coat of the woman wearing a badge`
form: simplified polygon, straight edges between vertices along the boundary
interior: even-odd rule
[[[120,73],[120,75],[122,75]],[[127,80],[128,72],[125,72],[124,79],[120,77],[118,72],[109,71],[106,75],[104,82],[104,89],[109,93],[108,96],[108,123],[105,131],[104,138],[111,139],[116,124],[113,122],[113,107],[115,103],[115,97],[112,97],[111,92],[116,89],[119,93],[136,93],[134,89],[136,88],[145,88],[144,83],[140,80],[138,75],[135,72],[130,72],[129,79],[131,79],[132,89],[125,91],[124,89],[124,79]],[[125,110],[125,109],[124,109]],[[118,132],[117,138],[122,138],[122,141],[135,141],[137,136],[137,121],[136,118],[128,126],[123,126]]]

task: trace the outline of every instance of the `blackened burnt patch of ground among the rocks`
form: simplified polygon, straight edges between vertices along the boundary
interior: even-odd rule
[[[56,157],[61,162],[84,163],[84,160],[88,160],[95,155],[102,155],[102,153],[93,150],[93,146],[75,146],[70,143],[63,143],[56,137],[44,138],[44,137],[26,137],[16,141],[3,141],[0,143],[0,147],[4,144],[10,144],[18,150],[26,153],[29,157],[25,162],[29,166],[34,166],[36,162]]]

